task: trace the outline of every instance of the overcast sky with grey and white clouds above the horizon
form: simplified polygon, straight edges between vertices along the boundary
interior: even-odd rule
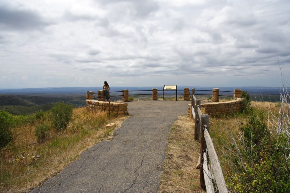
[[[0,0],[0,88],[279,87],[279,64],[289,0]]]

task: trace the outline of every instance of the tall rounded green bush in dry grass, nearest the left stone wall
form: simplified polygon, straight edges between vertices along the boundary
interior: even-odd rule
[[[51,111],[51,122],[57,131],[66,129],[72,118],[73,106],[67,103],[58,102],[50,110]]]

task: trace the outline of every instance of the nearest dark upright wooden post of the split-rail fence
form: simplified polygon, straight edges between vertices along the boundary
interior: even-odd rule
[[[200,179],[199,185],[205,189],[205,176],[203,174],[203,151],[206,150],[204,129],[209,130],[209,116],[207,114],[201,115],[201,138],[200,138]]]

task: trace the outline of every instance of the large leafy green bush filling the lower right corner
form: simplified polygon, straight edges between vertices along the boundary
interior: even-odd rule
[[[240,125],[240,133],[237,145],[229,148],[233,165],[226,181],[231,192],[288,192],[288,136],[270,132],[263,114],[253,113]]]

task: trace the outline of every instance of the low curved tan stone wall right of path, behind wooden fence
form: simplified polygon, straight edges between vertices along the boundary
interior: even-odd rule
[[[218,103],[207,103],[201,104],[201,108],[205,109],[205,114],[208,115],[219,115],[227,113],[239,112],[242,108],[242,98],[237,98],[235,100],[218,102]],[[192,117],[191,104],[188,105],[188,113]]]

